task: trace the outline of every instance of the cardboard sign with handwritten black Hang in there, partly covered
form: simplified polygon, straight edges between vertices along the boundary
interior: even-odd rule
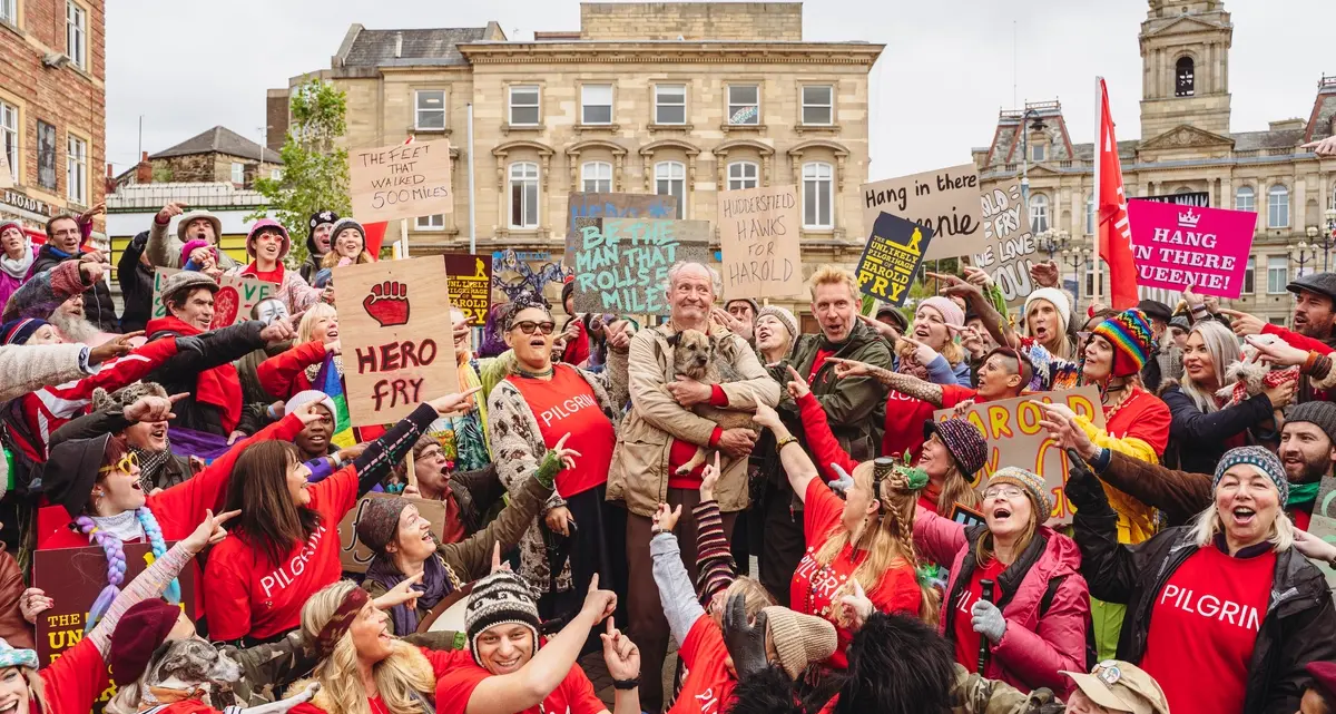
[[[863,185],[863,225],[882,213],[907,218],[937,235],[929,261],[983,250],[979,175],[973,163]]]

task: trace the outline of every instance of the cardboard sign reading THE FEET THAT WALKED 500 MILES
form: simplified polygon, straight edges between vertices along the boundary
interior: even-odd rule
[[[450,140],[349,151],[347,187],[362,223],[454,213]]]

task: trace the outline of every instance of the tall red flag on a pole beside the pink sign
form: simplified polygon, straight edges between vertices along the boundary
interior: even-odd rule
[[[1109,304],[1114,310],[1137,305],[1137,266],[1132,261],[1132,226],[1128,222],[1128,197],[1122,190],[1122,164],[1118,163],[1118,139],[1113,135],[1109,90],[1100,80],[1100,257],[1109,266]]]

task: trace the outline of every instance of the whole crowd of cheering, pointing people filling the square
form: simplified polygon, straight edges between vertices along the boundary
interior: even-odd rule
[[[118,310],[96,213],[40,247],[0,225],[0,714],[110,685],[116,714],[1336,711],[1336,546],[1309,533],[1336,485],[1333,273],[1288,286],[1284,328],[1192,289],[1078,306],[1051,263],[1014,321],[973,267],[864,314],[822,266],[804,329],[681,262],[645,324],[576,313],[572,282],[481,340],[456,310],[458,389],[350,432],[333,279],[378,259],[359,223],[311,215],[294,267],[261,219],[243,263],[164,206]],[[216,325],[223,275],[277,294]],[[966,419],[1078,386],[1102,420],[1041,405],[1062,488]],[[128,544],[154,555],[132,579]],[[106,582],[39,662],[69,594],[33,560],[75,547]]]

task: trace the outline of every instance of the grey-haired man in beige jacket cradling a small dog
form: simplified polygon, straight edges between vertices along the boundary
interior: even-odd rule
[[[683,507],[675,533],[681,559],[696,579],[696,521],[692,508],[700,501],[700,469],[677,476],[697,447],[733,457],[715,487],[723,511],[725,538],[732,538],[737,511],[749,505],[747,459],[756,441],[749,429],[720,429],[692,413],[696,404],[752,412],[756,404],[779,402],[779,382],[772,380],[756,353],[741,337],[709,321],[720,289],[719,274],[700,263],[677,263],[668,271],[667,324],[641,330],[631,340],[628,380],[631,413],[627,414],[612,456],[608,500],[627,504],[628,608],[631,632],[640,646],[640,705],[645,711],[663,709],[663,670],[668,650],[668,620],[655,586],[649,556],[653,513],[660,503]],[[715,342],[715,360],[724,360],[740,381],[705,385],[673,370],[673,336],[693,329]],[[708,459],[713,461],[713,459]]]

